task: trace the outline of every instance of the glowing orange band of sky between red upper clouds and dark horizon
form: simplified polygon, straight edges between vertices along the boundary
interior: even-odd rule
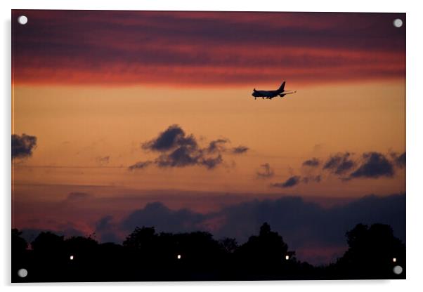
[[[301,175],[302,162],[311,157],[405,151],[403,81],[306,86],[296,95],[271,101],[254,100],[249,91],[247,87],[15,86],[14,133],[36,133],[38,140],[31,159],[17,164],[15,182],[279,192],[269,183]],[[129,172],[131,164],[154,156],[143,152],[141,143],[171,124],[193,133],[200,144],[228,138],[233,145],[247,145],[249,151],[227,155],[226,163],[211,171],[193,166]],[[105,163],[100,157],[109,159]],[[264,163],[275,171],[271,180],[256,179]],[[52,171],[28,166],[74,168]],[[334,197],[391,194],[405,191],[404,175],[349,183],[328,175],[325,183],[286,191]]]

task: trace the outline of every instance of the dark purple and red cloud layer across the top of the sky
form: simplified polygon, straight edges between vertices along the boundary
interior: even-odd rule
[[[27,15],[27,25],[19,25]],[[15,84],[405,78],[403,13],[13,11]]]

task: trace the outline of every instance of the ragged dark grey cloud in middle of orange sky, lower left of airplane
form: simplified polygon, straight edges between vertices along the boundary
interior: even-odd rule
[[[129,170],[145,168],[151,164],[159,167],[204,166],[213,169],[223,163],[224,152],[240,154],[248,150],[247,147],[240,146],[229,151],[226,147],[228,143],[228,139],[217,139],[209,142],[207,147],[201,147],[194,135],[187,135],[175,124],[156,138],[142,144],[143,150],[159,152],[159,156],[153,161],[137,162],[129,166]]]

